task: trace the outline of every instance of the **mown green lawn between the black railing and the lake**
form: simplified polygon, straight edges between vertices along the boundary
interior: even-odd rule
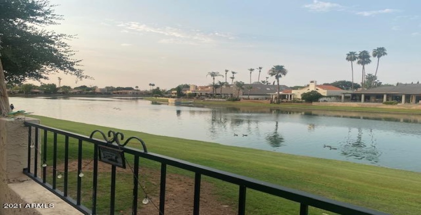
[[[41,124],[86,136],[89,136],[94,130],[122,132],[126,138],[131,136],[142,138],[146,142],[148,151],[152,153],[310,192],[337,201],[391,214],[415,215],[421,213],[419,208],[421,205],[419,198],[421,173],[151,135],[42,116],[31,117],[40,119]],[[140,148],[140,144],[135,142],[129,143],[129,146]],[[75,149],[76,147],[71,144],[70,159],[76,158]],[[159,168],[157,163],[145,160],[142,162],[149,168]],[[185,171],[176,168],[169,167],[168,169],[177,174],[194,176],[194,174],[185,173]],[[217,189],[215,192],[218,193],[220,200],[236,208],[237,186],[207,177],[204,179],[215,185]],[[128,183],[125,183],[127,187],[122,189],[130,190],[130,177],[127,180]],[[109,183],[109,180],[100,183]],[[107,184],[100,184],[100,186],[107,187]],[[123,185],[119,184],[119,186]],[[246,199],[247,214],[298,214],[299,204],[279,197],[248,189]],[[130,207],[131,201],[126,200],[125,203],[122,203],[123,206],[119,207],[120,209]],[[105,201],[104,204],[107,202]],[[310,214],[322,213],[321,210],[310,208]]]

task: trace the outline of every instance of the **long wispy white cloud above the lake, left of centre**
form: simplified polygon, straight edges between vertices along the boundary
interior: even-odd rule
[[[199,45],[199,44],[214,44],[221,39],[235,39],[236,37],[224,32],[209,32],[205,33],[197,29],[183,29],[175,27],[160,27],[158,25],[146,25],[137,22],[118,23],[118,27],[122,27],[121,32],[124,33],[151,33],[162,35],[166,38],[158,40],[163,44],[185,44],[185,45]]]

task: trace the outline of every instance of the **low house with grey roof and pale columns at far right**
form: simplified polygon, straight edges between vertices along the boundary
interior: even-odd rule
[[[421,83],[406,83],[355,91],[351,93],[351,101],[421,103]]]

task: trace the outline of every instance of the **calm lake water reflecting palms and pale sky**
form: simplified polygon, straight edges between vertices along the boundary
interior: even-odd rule
[[[11,97],[10,102],[16,110],[58,119],[421,172],[417,116],[171,106],[130,98]]]

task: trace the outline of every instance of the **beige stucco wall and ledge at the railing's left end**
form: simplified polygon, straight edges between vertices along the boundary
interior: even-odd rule
[[[25,120],[39,123],[34,118]],[[83,214],[24,175],[27,160],[24,120],[0,118],[0,215]]]

